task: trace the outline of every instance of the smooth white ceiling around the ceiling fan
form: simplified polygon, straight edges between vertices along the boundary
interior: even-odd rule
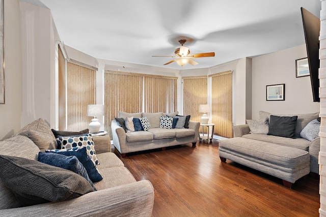
[[[320,0],[23,0],[51,10],[60,38],[72,48],[101,59],[171,69],[196,69],[270,53],[305,43],[301,7],[317,17]],[[179,47],[197,66],[163,66]]]

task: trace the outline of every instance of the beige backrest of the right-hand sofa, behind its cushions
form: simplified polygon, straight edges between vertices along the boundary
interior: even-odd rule
[[[271,113],[265,111],[259,111],[259,118],[264,119],[268,118]],[[319,112],[309,113],[309,114],[274,114],[277,116],[297,116],[296,126],[295,126],[295,137],[300,138],[301,131],[308,125],[310,121],[319,117]]]

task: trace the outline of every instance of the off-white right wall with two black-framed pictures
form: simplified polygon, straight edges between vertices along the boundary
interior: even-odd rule
[[[265,54],[252,59],[252,119],[259,111],[303,114],[319,111],[313,102],[310,77],[295,76],[295,60],[307,57],[306,45]],[[266,101],[266,85],[285,84],[285,101]]]

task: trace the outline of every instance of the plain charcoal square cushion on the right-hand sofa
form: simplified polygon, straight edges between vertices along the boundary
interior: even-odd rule
[[[270,115],[267,135],[281,136],[295,139],[295,125],[297,116]]]

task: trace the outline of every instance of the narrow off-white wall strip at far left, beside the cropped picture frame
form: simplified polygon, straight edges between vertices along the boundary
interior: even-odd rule
[[[6,104],[0,105],[0,140],[20,130],[22,109],[19,1],[5,0],[4,11]]]

